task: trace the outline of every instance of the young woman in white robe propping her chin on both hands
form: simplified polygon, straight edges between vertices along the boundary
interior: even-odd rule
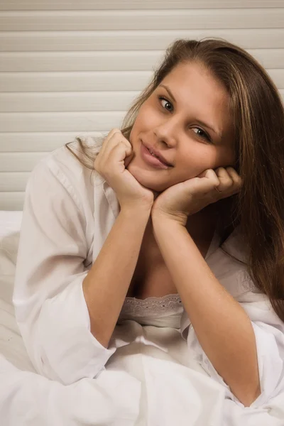
[[[245,406],[282,391],[283,165],[263,67],[223,40],[170,45],[121,130],[28,180],[13,303],[37,371],[97,376],[131,319],[180,329]]]

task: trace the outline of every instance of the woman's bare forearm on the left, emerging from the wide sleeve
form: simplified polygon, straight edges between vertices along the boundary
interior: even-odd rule
[[[83,282],[91,332],[105,347],[114,332],[138,261],[151,209],[121,210]]]

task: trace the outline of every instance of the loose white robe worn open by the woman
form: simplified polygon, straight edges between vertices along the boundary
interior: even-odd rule
[[[92,143],[92,138],[87,141]],[[73,147],[76,146],[74,142]],[[28,180],[13,305],[35,371],[63,385],[84,378],[102,380],[106,366],[115,368],[116,351],[127,352],[126,346],[131,342],[152,344],[153,358],[155,349],[163,346],[154,342],[157,338],[154,332],[151,339],[151,332],[157,329],[155,322],[151,327],[151,320],[149,327],[135,320],[116,325],[108,349],[90,332],[82,281],[118,214],[119,203],[114,190],[102,177],[91,175],[65,146],[43,158]],[[235,230],[225,241],[224,249],[244,258],[240,241]],[[251,408],[261,408],[284,391],[284,324],[266,295],[253,285],[246,266],[227,256],[217,241],[214,243],[211,253],[207,253],[207,264],[224,288],[244,307],[256,335],[261,395]],[[163,328],[160,330],[163,332]],[[174,362],[192,367],[195,374],[204,375],[204,380],[210,376],[213,388],[224,389],[224,398],[230,404],[244,408],[202,350],[185,310],[180,316],[180,328],[168,327],[165,333],[177,342],[177,346],[163,347],[165,353],[173,351]],[[184,346],[179,346],[182,344]],[[178,356],[180,347],[183,348],[183,363]],[[155,371],[158,371],[157,366]],[[231,413],[233,411],[231,409]]]

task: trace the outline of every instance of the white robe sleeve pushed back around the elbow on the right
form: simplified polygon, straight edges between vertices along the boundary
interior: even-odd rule
[[[284,391],[284,323],[275,314],[268,297],[258,293],[258,290],[239,295],[237,301],[249,316],[256,337],[261,395],[253,401],[251,407],[259,408]],[[194,359],[209,376],[226,387],[226,398],[244,407],[204,353],[186,312],[182,314],[180,331]]]

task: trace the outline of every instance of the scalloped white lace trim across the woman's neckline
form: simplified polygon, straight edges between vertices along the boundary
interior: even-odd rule
[[[136,297],[126,297],[121,309],[120,317],[145,317],[148,315],[173,315],[180,313],[182,301],[179,294],[170,294],[163,297],[147,297],[146,299],[136,299]]]

